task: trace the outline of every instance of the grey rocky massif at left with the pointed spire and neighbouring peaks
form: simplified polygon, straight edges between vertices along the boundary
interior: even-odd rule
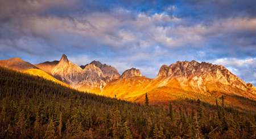
[[[106,83],[119,78],[117,69],[107,64],[93,61],[85,66],[77,66],[63,55],[52,69],[52,75],[74,88],[90,92],[101,92]]]

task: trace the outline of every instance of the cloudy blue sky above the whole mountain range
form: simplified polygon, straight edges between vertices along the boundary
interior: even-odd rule
[[[256,1],[0,0],[0,59],[92,60],[155,77],[162,64],[222,64],[256,84]]]

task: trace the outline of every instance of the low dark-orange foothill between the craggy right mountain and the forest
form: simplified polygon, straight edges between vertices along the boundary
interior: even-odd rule
[[[238,95],[225,94],[223,92],[208,92],[208,93],[200,93],[200,92],[192,92],[186,91],[179,88],[172,88],[168,86],[162,86],[159,88],[155,88],[149,92],[148,99],[150,99],[150,103],[166,103],[174,100],[184,100],[184,99],[200,99],[203,102],[210,103],[212,105],[216,104],[216,98],[218,103],[221,103],[220,97],[222,95],[225,96],[225,105],[230,107],[240,107],[247,110],[256,109],[256,101],[253,99],[248,99],[244,97],[240,97]],[[134,101],[144,103],[145,94],[137,96],[134,98]]]

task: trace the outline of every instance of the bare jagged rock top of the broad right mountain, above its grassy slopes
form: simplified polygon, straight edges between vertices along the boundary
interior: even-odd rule
[[[208,89],[205,84],[222,84],[242,90],[254,88],[250,87],[250,84],[246,85],[246,82],[239,79],[224,66],[207,62],[199,63],[195,60],[191,62],[177,61],[170,66],[163,65],[159,70],[158,77],[166,77],[168,80],[176,79],[180,85],[189,85],[203,91]]]

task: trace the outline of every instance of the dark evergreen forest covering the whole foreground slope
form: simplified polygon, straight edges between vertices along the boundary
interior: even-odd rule
[[[225,108],[224,98],[217,106],[200,100],[174,101],[166,108],[138,105],[6,68],[0,68],[0,86],[0,138],[255,138],[256,133],[255,113]]]

